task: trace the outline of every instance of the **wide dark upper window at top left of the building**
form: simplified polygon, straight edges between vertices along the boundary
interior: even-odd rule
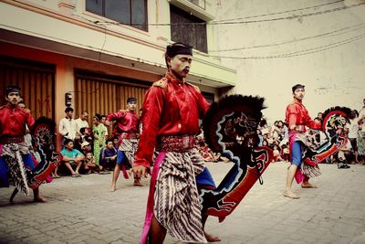
[[[86,0],[86,10],[148,31],[147,0]]]

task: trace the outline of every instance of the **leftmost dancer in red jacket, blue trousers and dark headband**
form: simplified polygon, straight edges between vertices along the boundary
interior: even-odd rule
[[[29,194],[26,170],[34,169],[33,159],[26,145],[24,136],[26,125],[31,128],[35,120],[29,110],[17,107],[20,97],[20,88],[9,86],[5,89],[7,104],[0,108],[0,180],[5,186],[9,186],[7,172],[13,177],[16,189],[10,197],[13,202],[18,191]],[[39,189],[33,189],[34,201],[44,202],[39,196]]]

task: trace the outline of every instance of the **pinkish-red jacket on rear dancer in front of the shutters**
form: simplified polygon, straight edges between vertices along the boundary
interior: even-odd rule
[[[108,114],[107,121],[115,121],[114,134],[138,133],[138,116],[132,111],[117,111]]]

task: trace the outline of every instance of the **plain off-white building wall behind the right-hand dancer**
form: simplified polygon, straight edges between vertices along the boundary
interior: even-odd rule
[[[218,50],[235,48],[214,54],[238,58],[223,58],[224,65],[237,69],[230,92],[265,97],[269,122],[284,119],[296,83],[306,85],[304,103],[312,118],[335,105],[359,110],[365,98],[365,1],[333,2],[219,1],[216,20],[236,22],[214,25]],[[294,9],[302,10],[288,11]],[[263,21],[269,18],[287,19]]]

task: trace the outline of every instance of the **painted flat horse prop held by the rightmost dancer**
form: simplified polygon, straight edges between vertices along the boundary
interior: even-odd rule
[[[307,148],[302,156],[304,163],[316,166],[346,145],[348,138],[342,131],[349,122],[350,112],[346,107],[334,107],[323,112],[321,131],[326,134],[327,140],[316,149]]]

